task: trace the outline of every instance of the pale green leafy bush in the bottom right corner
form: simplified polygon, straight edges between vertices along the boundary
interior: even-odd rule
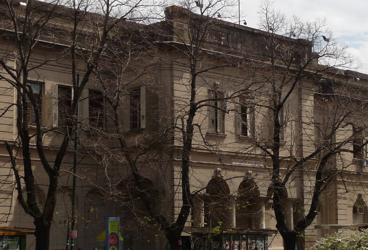
[[[368,229],[327,235],[308,250],[368,250]]]

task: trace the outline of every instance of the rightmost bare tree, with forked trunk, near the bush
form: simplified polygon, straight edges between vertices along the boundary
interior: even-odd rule
[[[254,82],[262,88],[251,93],[259,123],[255,143],[244,151],[254,150],[267,159],[269,195],[284,249],[295,249],[297,240],[302,249],[323,192],[336,182],[351,191],[348,173],[360,169],[361,162],[352,168],[352,159],[362,159],[367,145],[365,89],[354,84],[350,71],[339,69],[353,67],[356,61],[346,45],[332,38],[324,19],[288,19],[268,1],[260,14],[263,49],[255,51],[253,59]],[[241,120],[247,126],[246,119]],[[295,182],[300,196],[290,210],[284,198],[287,192],[290,197]]]

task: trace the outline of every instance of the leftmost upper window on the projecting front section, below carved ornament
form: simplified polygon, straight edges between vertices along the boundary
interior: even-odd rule
[[[223,100],[223,93],[208,90],[208,130],[209,132],[225,133],[225,110],[226,101]]]

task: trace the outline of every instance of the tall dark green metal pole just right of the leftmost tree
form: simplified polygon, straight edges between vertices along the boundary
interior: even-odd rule
[[[79,74],[77,74],[77,86],[74,90],[74,94],[78,96],[78,88],[79,88]],[[79,115],[79,101],[77,101],[77,110],[75,111],[75,119],[78,120]],[[78,129],[77,129],[77,122],[74,121],[74,162],[73,162],[73,190],[72,190],[72,203],[71,203],[71,230],[74,230],[75,226],[75,188],[76,188],[76,182],[77,182],[77,160],[78,160]],[[70,250],[74,249],[74,239],[71,238],[70,242]]]

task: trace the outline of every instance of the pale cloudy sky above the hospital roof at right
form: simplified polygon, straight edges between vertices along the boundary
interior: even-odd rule
[[[240,0],[247,25],[258,28],[260,0]],[[326,18],[335,38],[348,44],[352,53],[364,64],[357,71],[368,74],[368,1],[367,0],[275,0],[275,11],[287,17],[296,15],[304,20]]]

